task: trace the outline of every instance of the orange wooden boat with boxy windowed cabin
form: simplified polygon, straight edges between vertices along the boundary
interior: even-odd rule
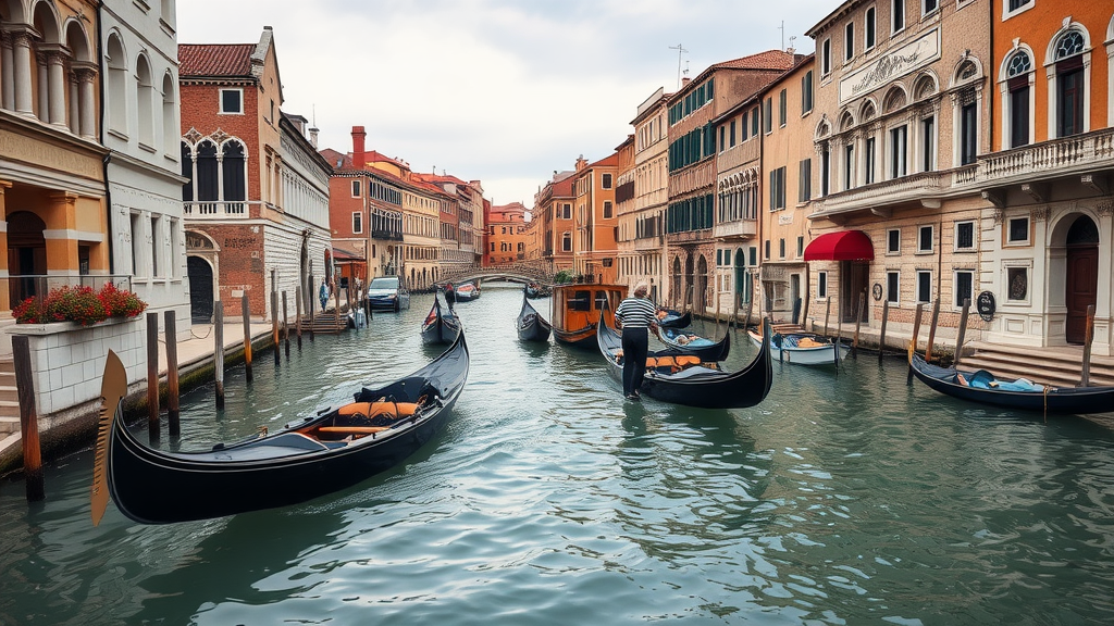
[[[574,283],[554,285],[549,323],[558,343],[592,349],[600,315],[614,325],[615,309],[626,297],[626,285]]]

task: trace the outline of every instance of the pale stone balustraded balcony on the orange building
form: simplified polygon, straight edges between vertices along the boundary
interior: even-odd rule
[[[983,189],[1114,168],[1114,128],[1042,141],[978,159]]]

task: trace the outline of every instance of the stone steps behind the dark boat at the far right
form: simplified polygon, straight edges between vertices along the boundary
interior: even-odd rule
[[[964,370],[987,370],[999,379],[1026,378],[1054,387],[1075,387],[1083,373],[1082,348],[1007,348],[975,344],[975,354],[960,362]],[[1091,387],[1114,385],[1114,359],[1091,360]]]

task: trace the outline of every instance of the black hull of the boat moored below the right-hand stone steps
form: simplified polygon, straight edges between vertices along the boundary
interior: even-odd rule
[[[940,393],[960,400],[1038,413],[1114,412],[1114,387],[1053,388],[1044,393],[979,389],[945,380],[941,376],[955,376],[957,370],[929,366],[919,354],[912,356],[910,365],[918,380]],[[932,373],[930,373],[930,368]],[[960,373],[968,376],[973,374],[973,372]]]

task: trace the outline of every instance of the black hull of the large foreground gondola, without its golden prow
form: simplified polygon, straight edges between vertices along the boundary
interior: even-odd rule
[[[433,439],[451,415],[467,376],[468,350],[461,333],[430,365],[356,394],[416,402],[420,394],[433,393],[439,401],[429,410],[374,436],[321,444],[322,449],[313,451],[278,442],[284,437],[307,440],[297,431],[332,419],[335,410],[287,424],[270,437],[202,452],[165,452],[144,446],[117,415],[108,446],[109,492],[128,518],[170,524],[296,505],[340,491],[398,466]]]

